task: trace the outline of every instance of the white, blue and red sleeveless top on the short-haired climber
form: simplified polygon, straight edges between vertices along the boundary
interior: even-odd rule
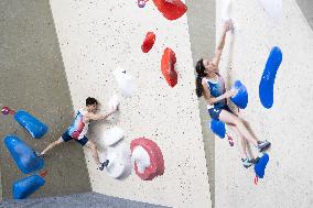
[[[87,112],[88,111],[84,109],[79,109],[75,116],[74,122],[67,130],[68,135],[75,140],[80,140],[87,134],[89,122],[84,122],[83,120],[83,117]]]

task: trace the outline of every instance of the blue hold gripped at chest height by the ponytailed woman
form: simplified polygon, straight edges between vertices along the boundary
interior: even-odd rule
[[[230,100],[240,109],[245,109],[248,105],[248,91],[245,85],[240,80],[236,80],[231,89],[237,94],[230,98]]]

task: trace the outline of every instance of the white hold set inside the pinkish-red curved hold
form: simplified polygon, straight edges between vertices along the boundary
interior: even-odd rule
[[[137,164],[138,172],[143,174],[145,168],[151,165],[150,156],[142,146],[137,146],[131,154],[131,161]]]

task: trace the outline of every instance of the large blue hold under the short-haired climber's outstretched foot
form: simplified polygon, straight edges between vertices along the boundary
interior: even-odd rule
[[[43,167],[43,158],[37,157],[34,151],[18,136],[6,136],[4,144],[22,173],[29,174]]]

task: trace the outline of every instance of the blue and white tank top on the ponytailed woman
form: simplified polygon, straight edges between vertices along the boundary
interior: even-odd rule
[[[222,96],[226,91],[223,77],[219,74],[216,74],[216,76],[217,76],[217,81],[213,81],[213,80],[204,77],[205,83],[207,85],[207,88],[211,91],[211,95],[215,98]],[[224,106],[226,106],[226,99],[223,99],[218,102],[215,102],[213,106],[207,105],[207,108],[208,109],[211,109],[211,108],[223,108]]]

